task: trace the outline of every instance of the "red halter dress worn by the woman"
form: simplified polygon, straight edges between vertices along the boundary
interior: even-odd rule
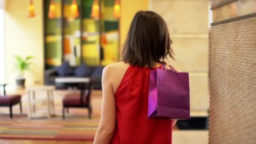
[[[110,144],[171,144],[172,120],[147,117],[149,68],[130,66],[117,91],[116,128]]]

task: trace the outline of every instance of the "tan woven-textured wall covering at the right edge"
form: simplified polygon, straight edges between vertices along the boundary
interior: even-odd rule
[[[209,144],[256,144],[256,18],[211,27],[209,52]]]

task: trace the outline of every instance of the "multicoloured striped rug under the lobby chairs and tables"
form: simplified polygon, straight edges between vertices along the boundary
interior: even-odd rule
[[[55,116],[50,119],[27,118],[27,95],[22,95],[23,114],[19,105],[13,107],[13,119],[9,118],[8,107],[0,107],[0,139],[41,139],[41,140],[77,140],[93,141],[99,125],[101,109],[101,91],[92,93],[92,119],[88,119],[88,110],[69,108],[69,114],[62,120],[62,98],[67,91],[56,91],[54,94]],[[46,93],[36,93],[36,110],[46,110]]]

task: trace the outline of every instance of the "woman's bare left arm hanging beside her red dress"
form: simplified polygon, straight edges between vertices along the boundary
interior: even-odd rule
[[[105,67],[102,73],[102,94],[101,120],[93,144],[109,144],[115,131],[115,94],[109,66]]]

